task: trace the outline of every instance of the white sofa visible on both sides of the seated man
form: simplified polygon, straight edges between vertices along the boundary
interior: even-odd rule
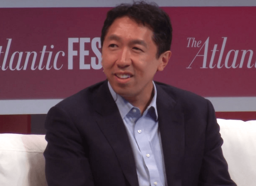
[[[217,119],[237,186],[256,186],[256,120]],[[0,134],[0,186],[47,186],[45,135]]]

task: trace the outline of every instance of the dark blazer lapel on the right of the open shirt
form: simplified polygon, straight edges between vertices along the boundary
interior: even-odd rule
[[[174,101],[157,83],[158,125],[161,134],[165,172],[169,186],[181,186],[181,164],[185,148],[184,115]]]

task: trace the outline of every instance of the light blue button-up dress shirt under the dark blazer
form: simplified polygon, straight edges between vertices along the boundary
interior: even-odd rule
[[[116,94],[108,82],[126,127],[133,150],[139,186],[167,186],[164,157],[157,115],[157,89],[153,82],[154,97],[143,115],[122,96]]]

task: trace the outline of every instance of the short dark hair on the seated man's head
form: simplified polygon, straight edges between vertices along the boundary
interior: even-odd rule
[[[157,4],[148,4],[144,1],[133,2],[132,5],[121,4],[108,11],[101,31],[101,46],[103,46],[108,28],[116,18],[123,16],[128,16],[152,28],[154,32],[152,40],[157,45],[157,59],[162,53],[170,50],[173,28],[169,16]]]

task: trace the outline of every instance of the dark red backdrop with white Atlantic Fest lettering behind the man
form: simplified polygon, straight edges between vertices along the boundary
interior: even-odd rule
[[[101,28],[110,7],[1,8],[0,114],[47,113],[103,81]],[[163,7],[169,64],[155,76],[209,98],[216,111],[256,111],[256,7]]]

